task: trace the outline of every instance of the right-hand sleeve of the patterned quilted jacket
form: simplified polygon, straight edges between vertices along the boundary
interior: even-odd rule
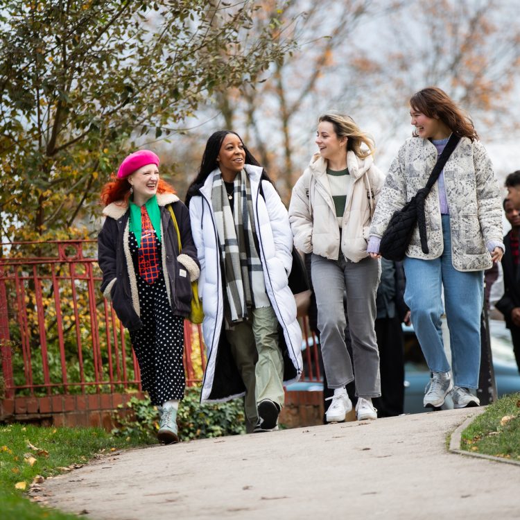
[[[491,159],[483,144],[476,141],[473,149],[478,221],[485,243],[502,242],[502,206],[499,183],[493,173]]]

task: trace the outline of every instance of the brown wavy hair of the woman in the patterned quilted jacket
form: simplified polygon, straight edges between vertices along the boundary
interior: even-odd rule
[[[471,141],[478,139],[473,121],[444,90],[439,87],[426,87],[415,92],[410,98],[412,110],[421,112],[426,117],[440,119],[455,135],[468,137]],[[417,137],[415,131],[413,136]]]

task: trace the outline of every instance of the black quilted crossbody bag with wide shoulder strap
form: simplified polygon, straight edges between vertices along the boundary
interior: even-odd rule
[[[404,205],[403,209],[395,211],[390,218],[388,227],[383,233],[379,253],[388,260],[400,261],[404,259],[408,244],[412,239],[415,224],[419,226],[419,236],[421,238],[422,252],[427,254],[428,241],[426,241],[426,216],[424,215],[424,200],[430,193],[433,184],[437,181],[444,164],[455,150],[460,137],[451,134],[444,150],[440,154],[424,188],[419,189],[415,196]]]

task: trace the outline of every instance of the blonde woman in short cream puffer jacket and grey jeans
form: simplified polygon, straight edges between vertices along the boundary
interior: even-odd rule
[[[352,410],[345,385],[355,375],[356,416],[376,419],[372,397],[381,396],[381,382],[374,320],[381,266],[368,257],[367,239],[384,177],[374,166],[371,139],[348,116],[321,116],[316,144],[320,153],[293,188],[289,219],[295,246],[312,253],[323,363],[334,390],[326,418],[344,421]],[[344,291],[352,361],[344,337]]]

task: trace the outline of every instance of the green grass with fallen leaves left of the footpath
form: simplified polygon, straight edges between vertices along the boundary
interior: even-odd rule
[[[83,465],[98,453],[111,453],[137,444],[133,437],[114,438],[101,428],[0,426],[0,517],[77,520],[75,515],[31,503],[24,497],[24,490],[28,491],[36,476],[47,478],[71,465]],[[23,487],[21,483],[25,483],[25,489],[17,489],[17,485]]]

